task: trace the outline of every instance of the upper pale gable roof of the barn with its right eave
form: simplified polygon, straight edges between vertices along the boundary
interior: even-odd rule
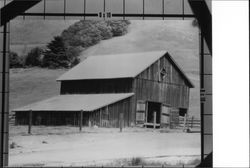
[[[191,81],[167,51],[89,56],[83,62],[60,76],[57,81],[134,78],[163,56],[168,57],[188,85],[193,87]]]

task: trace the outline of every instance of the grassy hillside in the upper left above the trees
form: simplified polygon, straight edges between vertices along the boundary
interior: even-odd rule
[[[34,47],[45,47],[76,20],[13,20],[10,24],[10,49],[22,56]]]

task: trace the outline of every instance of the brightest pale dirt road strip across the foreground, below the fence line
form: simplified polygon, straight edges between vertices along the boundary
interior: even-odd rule
[[[45,141],[46,143],[43,143]],[[46,166],[82,166],[104,164],[115,159],[132,157],[199,155],[200,135],[188,133],[160,133],[159,131],[120,133],[66,133],[62,135],[15,135],[10,142],[19,146],[10,150],[10,166],[41,164]],[[197,158],[197,156],[196,156]],[[161,158],[166,161],[166,158]],[[190,159],[190,158],[189,158]],[[185,160],[185,158],[184,158]]]

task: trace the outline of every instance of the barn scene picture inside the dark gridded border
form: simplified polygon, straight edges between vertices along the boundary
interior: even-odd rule
[[[27,20],[11,32],[10,165],[199,163],[195,20]]]

